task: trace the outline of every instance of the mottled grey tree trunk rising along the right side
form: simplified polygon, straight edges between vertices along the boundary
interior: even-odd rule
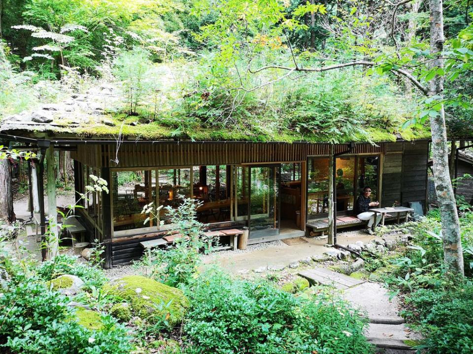
[[[430,5],[430,50],[433,56],[440,56],[443,50],[442,0],[429,0]],[[443,59],[432,61],[432,67],[443,67]],[[443,76],[436,75],[429,83],[429,96],[443,96]],[[447,133],[445,111],[441,105],[439,115],[430,119],[432,130],[432,156],[434,182],[440,206],[442,224],[443,257],[447,273],[464,275],[460,224],[455,196],[448,170]]]

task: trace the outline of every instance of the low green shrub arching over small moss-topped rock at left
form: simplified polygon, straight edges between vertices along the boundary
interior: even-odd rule
[[[51,280],[63,274],[76,275],[85,283],[85,289],[100,288],[107,281],[100,268],[78,263],[76,258],[68,255],[58,255],[54,260],[41,263],[36,273],[44,280]]]

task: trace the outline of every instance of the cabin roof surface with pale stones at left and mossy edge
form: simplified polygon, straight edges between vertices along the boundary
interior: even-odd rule
[[[184,118],[178,115],[150,118],[149,114],[128,116],[119,113],[115,107],[120,102],[120,90],[110,85],[89,89],[83,94],[73,95],[66,101],[47,104],[34,111],[26,111],[5,118],[1,132],[28,134],[43,132],[51,136],[74,136],[78,138],[112,139],[119,135],[140,140],[191,140],[191,141],[254,141],[254,142],[330,142],[332,137],[326,131],[300,132],[291,127],[265,130],[261,124],[223,127],[205,126],[199,122],[179,124]],[[262,128],[263,127],[263,128]],[[365,128],[365,134],[339,135],[337,142],[381,142],[430,138],[425,129],[387,130]]]

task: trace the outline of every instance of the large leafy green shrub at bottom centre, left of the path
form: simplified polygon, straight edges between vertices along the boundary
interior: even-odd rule
[[[338,297],[296,297],[265,282],[203,273],[187,290],[188,353],[372,353],[364,322]]]

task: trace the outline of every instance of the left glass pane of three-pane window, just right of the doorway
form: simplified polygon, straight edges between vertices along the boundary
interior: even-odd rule
[[[310,158],[307,168],[307,218],[329,211],[329,159]]]

